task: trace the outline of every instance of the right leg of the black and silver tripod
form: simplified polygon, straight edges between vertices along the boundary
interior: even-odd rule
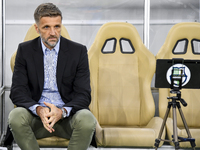
[[[179,110],[181,119],[182,119],[182,121],[183,121],[185,130],[186,130],[186,132],[187,132],[188,138],[192,138],[192,135],[191,135],[190,130],[189,130],[189,128],[188,128],[187,122],[186,122],[185,117],[184,117],[184,115],[183,115],[183,111],[182,111],[182,109],[181,109],[181,106],[180,106],[180,104],[177,105],[177,106],[178,106],[178,110]],[[190,144],[191,144],[192,148],[195,149],[195,146],[196,146],[195,140],[190,141]]]

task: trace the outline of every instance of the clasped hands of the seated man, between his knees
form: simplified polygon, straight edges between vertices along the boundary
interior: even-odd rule
[[[47,107],[38,106],[36,112],[41,118],[44,128],[47,129],[47,131],[49,131],[50,133],[52,133],[55,131],[53,126],[62,118],[62,110],[57,108],[53,104],[46,102],[44,102],[44,104]]]

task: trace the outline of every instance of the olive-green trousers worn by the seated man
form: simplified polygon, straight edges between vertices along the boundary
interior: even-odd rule
[[[87,109],[58,121],[53,127],[53,133],[43,127],[39,117],[22,107],[10,112],[8,123],[16,143],[22,150],[39,150],[36,139],[51,136],[70,139],[68,150],[87,150],[96,127],[96,119]]]

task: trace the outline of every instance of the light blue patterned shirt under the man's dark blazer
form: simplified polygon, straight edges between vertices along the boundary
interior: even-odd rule
[[[42,50],[44,54],[44,88],[42,92],[42,96],[39,100],[39,104],[33,105],[29,107],[29,109],[35,114],[37,106],[47,107],[44,102],[54,104],[58,108],[62,108],[65,104],[61,99],[60,93],[58,92],[57,82],[56,82],[56,70],[57,70],[57,59],[58,52],[60,48],[60,40],[56,44],[56,46],[49,50],[46,46],[42,44]],[[69,116],[71,112],[71,107],[64,107],[67,110],[67,116]]]

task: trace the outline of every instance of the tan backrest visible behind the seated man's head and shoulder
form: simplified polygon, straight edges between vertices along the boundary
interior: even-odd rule
[[[64,25],[61,26],[61,35],[67,39],[70,39],[69,33],[68,33],[67,29],[64,27]],[[24,42],[32,40],[38,36],[40,36],[40,35],[36,32],[34,24],[33,24],[27,31],[26,36],[24,38]],[[17,51],[15,51],[13,53],[11,60],[10,60],[10,66],[11,66],[12,72],[14,71],[16,53],[17,53]]]

